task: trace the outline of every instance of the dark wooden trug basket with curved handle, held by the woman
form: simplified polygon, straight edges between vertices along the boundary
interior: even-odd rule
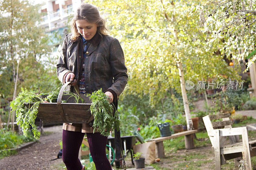
[[[43,122],[54,123],[89,123],[93,120],[93,115],[91,115],[91,111],[89,110],[92,105],[89,97],[84,95],[79,96],[84,99],[85,103],[75,103],[75,100],[69,98],[70,96],[67,95],[62,97],[65,88],[70,83],[67,82],[61,87],[57,103],[39,104],[37,113],[39,119]],[[75,85],[75,88],[79,92],[77,85]],[[61,103],[61,100],[67,100],[67,103]],[[31,106],[33,106],[33,103],[32,105],[30,104]]]

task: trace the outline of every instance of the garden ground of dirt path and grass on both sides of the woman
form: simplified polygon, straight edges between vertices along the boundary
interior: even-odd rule
[[[32,146],[22,149],[16,155],[5,157],[0,160],[0,170],[62,170],[64,166],[62,159],[51,161],[57,158],[60,151],[59,142],[62,138],[62,126],[53,126],[44,128],[44,131],[52,132],[47,136],[41,136],[39,142]],[[255,131],[254,131],[255,133]],[[253,135],[254,136],[254,135]],[[256,137],[252,137],[255,140]],[[209,140],[208,138],[199,140]],[[156,162],[152,166],[161,170],[213,170],[215,169],[214,152],[212,145],[206,144],[203,147],[191,150],[178,150],[173,152],[175,146],[171,146],[169,151],[165,150],[165,158],[161,158],[160,162]],[[131,163],[130,153],[125,158],[127,168],[134,167]],[[222,169],[232,169],[230,166],[232,160],[228,161],[226,165],[221,166]],[[256,164],[255,164],[256,165]],[[255,166],[253,165],[253,166]],[[113,168],[115,168],[113,166]],[[255,167],[253,167],[255,168]],[[116,169],[116,168],[115,168]],[[233,168],[238,169],[238,168]]]

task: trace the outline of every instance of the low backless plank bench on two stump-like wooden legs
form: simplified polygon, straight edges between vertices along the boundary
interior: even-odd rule
[[[179,133],[174,133],[168,137],[158,137],[151,139],[149,141],[156,142],[156,158],[164,158],[164,143],[163,141],[173,139],[176,137],[185,136],[185,148],[186,149],[193,149],[195,148],[193,134],[195,134],[197,130],[187,130]]]

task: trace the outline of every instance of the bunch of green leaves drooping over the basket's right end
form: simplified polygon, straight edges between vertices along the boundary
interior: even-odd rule
[[[102,92],[102,89],[92,94],[87,94],[87,96],[90,96],[92,101],[90,110],[94,117],[93,133],[97,129],[101,135],[108,136],[112,129],[119,130],[118,114],[115,112],[115,115],[112,115],[113,107],[109,103],[108,96]]]

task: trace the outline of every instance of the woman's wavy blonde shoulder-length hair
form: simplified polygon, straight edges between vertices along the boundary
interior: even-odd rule
[[[107,35],[108,29],[106,27],[106,21],[100,17],[99,10],[96,6],[87,3],[81,3],[77,8],[77,11],[70,22],[71,27],[71,39],[75,41],[77,37],[80,36],[76,28],[76,21],[79,19],[84,19],[91,24],[97,24],[97,32],[102,35]]]

